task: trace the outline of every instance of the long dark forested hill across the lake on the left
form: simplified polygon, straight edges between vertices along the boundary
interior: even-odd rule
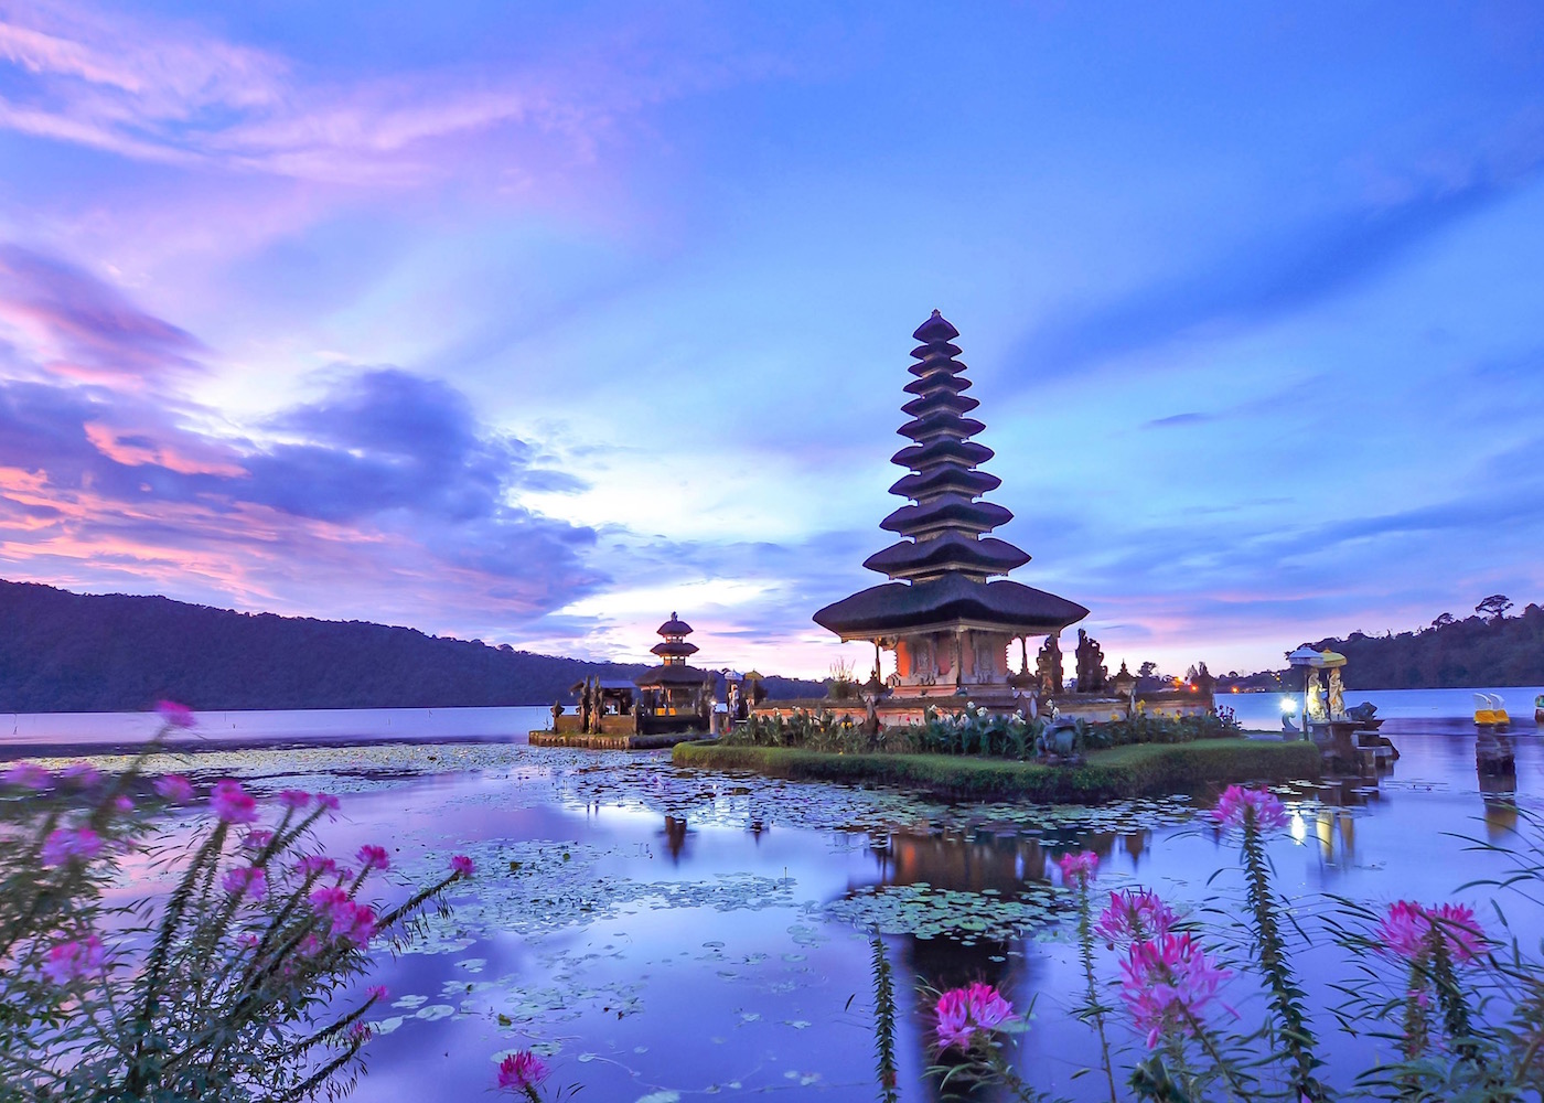
[[[571,700],[585,663],[364,621],[238,613],[170,598],[82,595],[0,579],[0,712],[449,708]],[[824,692],[769,677],[772,697]]]

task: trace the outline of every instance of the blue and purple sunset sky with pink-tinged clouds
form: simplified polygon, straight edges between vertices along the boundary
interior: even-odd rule
[[[911,331],[1112,667],[1544,601],[1544,8],[0,0],[0,576],[821,675]]]

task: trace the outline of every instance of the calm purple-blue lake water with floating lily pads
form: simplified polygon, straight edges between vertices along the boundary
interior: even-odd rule
[[[1379,701],[1391,717],[1385,731],[1405,709],[1411,720],[1431,718],[1431,708],[1465,717],[1468,691],[1445,692],[1453,704],[1379,695],[1391,698],[1387,709]],[[1271,857],[1311,933],[1329,911],[1328,893],[1434,902],[1502,871],[1499,854],[1456,837],[1504,840],[1516,826],[1512,800],[1539,806],[1539,691],[1501,692],[1519,720],[1529,704],[1512,737],[1515,792],[1478,775],[1473,731],[1461,726],[1396,735],[1402,759],[1376,782],[1278,789],[1292,823]],[[1101,808],[962,806],[681,771],[659,752],[525,746],[523,732],[543,715],[208,714],[208,742],[190,745],[196,754],[176,766],[201,780],[242,777],[256,791],[341,794],[327,848],[388,843],[403,884],[429,881],[452,853],[477,860],[449,921],[380,962],[372,979],[391,989],[392,1006],[372,1016],[380,1037],[354,1098],[483,1098],[496,1058],[533,1044],[550,1055],[554,1083],[584,1084],[581,1098],[598,1101],[872,1098],[874,927],[897,976],[902,1098],[936,1098],[922,1075],[929,1024],[917,984],[968,979],[997,983],[1021,1007],[1033,1001],[1036,1021],[1017,1054],[1031,1083],[1096,1098],[1092,1077],[1073,1078],[1093,1049],[1067,1013],[1081,976],[1055,857],[1092,848],[1102,857],[1101,888],[1139,882],[1194,913],[1237,913],[1237,873],[1209,884],[1237,862],[1237,847],[1197,819],[1206,794]],[[32,754],[82,742],[103,765],[111,759],[102,749],[148,734],[147,717],[0,725],[12,752],[23,742]],[[279,746],[239,746],[262,738]],[[1456,896],[1495,925],[1484,890]],[[1539,908],[1507,898],[1505,911],[1536,945]],[[1315,1003],[1346,979],[1325,947],[1299,966]],[[1115,976],[1109,956],[1102,969]],[[1248,983],[1235,979],[1224,995],[1246,1020],[1255,1015]],[[1129,1029],[1116,1026],[1115,1037],[1129,1058],[1139,1055]],[[1332,1066],[1343,1074],[1366,1057],[1342,1044]]]

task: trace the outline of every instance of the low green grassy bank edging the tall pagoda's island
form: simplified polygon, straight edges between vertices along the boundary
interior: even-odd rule
[[[744,769],[770,777],[903,785],[943,797],[1017,797],[1039,803],[1092,803],[1156,796],[1197,785],[1288,782],[1319,777],[1312,743],[1271,738],[1203,738],[1132,743],[1090,751],[1081,766],[957,754],[837,754],[787,746],[681,743],[678,766]]]

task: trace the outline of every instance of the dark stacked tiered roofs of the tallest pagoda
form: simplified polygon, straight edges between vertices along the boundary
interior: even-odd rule
[[[985,425],[967,417],[980,403],[965,397],[970,380],[954,344],[959,331],[937,311],[916,331],[906,385],[916,395],[902,406],[911,420],[899,433],[913,440],[892,457],[908,474],[889,488],[908,499],[880,522],[905,539],[871,555],[863,565],[892,582],[854,593],[815,613],[815,623],[843,640],[906,630],[977,627],[1013,635],[1047,635],[1082,619],[1089,610],[1019,582],[999,579],[1030,556],[987,536],[1013,519],[1008,510],[980,501],[1002,485],[980,470],[993,451],[970,437]]]

